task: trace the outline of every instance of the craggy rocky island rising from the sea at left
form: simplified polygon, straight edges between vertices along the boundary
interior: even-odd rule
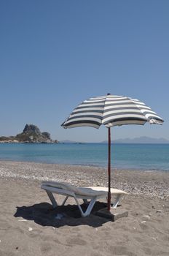
[[[58,143],[58,140],[52,140],[49,132],[41,132],[34,124],[26,124],[18,135],[0,137],[0,143]]]

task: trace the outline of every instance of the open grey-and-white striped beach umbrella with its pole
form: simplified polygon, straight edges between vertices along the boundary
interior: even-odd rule
[[[111,208],[111,127],[124,124],[162,124],[163,120],[138,99],[107,94],[84,100],[61,124],[63,128],[108,128],[108,210]]]

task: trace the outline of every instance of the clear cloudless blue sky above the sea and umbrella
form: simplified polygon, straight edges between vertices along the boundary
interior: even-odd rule
[[[36,124],[53,139],[106,140],[106,127],[60,124],[84,99],[111,93],[165,120],[114,127],[112,140],[169,140],[168,13],[168,0],[1,0],[0,135]]]

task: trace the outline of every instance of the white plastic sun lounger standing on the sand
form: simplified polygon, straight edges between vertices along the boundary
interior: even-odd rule
[[[58,195],[65,195],[65,199],[61,206],[64,206],[68,197],[74,197],[77,206],[79,207],[79,211],[82,214],[82,217],[86,217],[90,214],[95,205],[96,200],[107,198],[107,188],[106,187],[76,187],[66,183],[60,183],[55,181],[43,181],[41,188],[47,192],[48,197],[52,203],[53,208],[58,206],[53,193]],[[113,208],[116,208],[119,200],[122,199],[127,193],[119,190],[119,189],[111,189],[111,195],[115,195],[116,199],[113,204]],[[90,203],[87,206],[87,210],[83,211],[82,207],[79,205],[78,199],[82,199],[84,203],[87,205],[87,200],[90,200]]]

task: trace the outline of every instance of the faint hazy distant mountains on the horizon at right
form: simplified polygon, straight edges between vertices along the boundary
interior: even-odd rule
[[[101,143],[107,143],[107,141],[102,141]],[[118,139],[118,140],[113,140],[113,143],[162,143],[162,144],[168,144],[169,140],[166,140],[165,138],[151,138],[151,137],[146,137],[146,136],[142,136],[139,138],[125,138],[125,139]]]

